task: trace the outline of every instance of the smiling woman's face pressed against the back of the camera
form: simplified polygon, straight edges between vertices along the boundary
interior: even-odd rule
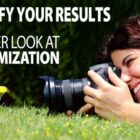
[[[140,49],[115,50],[113,64],[121,70],[121,79],[135,94],[140,92]]]

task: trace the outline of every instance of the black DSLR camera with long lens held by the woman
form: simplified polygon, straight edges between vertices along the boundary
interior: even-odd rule
[[[120,72],[112,63],[102,63],[89,67],[90,70],[97,72],[105,81],[111,83],[108,78],[108,67],[119,76]],[[77,111],[84,102],[83,87],[89,85],[97,88],[94,81],[89,77],[82,79],[57,80],[50,76],[40,76],[44,81],[44,99],[49,108],[49,112],[61,113],[66,110]]]

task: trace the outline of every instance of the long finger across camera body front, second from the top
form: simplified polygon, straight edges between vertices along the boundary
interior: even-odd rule
[[[98,88],[104,88],[109,85],[98,73],[94,72],[93,70],[88,71],[89,77],[95,82]]]

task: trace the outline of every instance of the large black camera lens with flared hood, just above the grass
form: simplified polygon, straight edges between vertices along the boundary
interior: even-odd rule
[[[83,87],[87,78],[56,80],[54,77],[41,76],[45,80],[44,97],[50,112],[76,111],[84,102]]]

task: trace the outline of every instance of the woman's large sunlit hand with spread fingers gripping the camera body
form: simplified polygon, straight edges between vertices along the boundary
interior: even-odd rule
[[[124,119],[128,106],[134,103],[129,88],[111,68],[108,69],[110,81],[106,82],[96,72],[88,71],[89,77],[96,83],[97,89],[84,87],[85,102],[94,106],[95,112],[104,118]]]

